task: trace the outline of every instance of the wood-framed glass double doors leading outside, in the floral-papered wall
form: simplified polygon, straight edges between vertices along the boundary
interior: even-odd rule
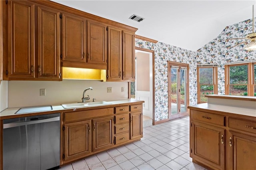
[[[188,70],[188,64],[168,61],[169,120],[188,116]]]

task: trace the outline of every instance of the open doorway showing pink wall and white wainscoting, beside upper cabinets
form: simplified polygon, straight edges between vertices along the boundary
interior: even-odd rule
[[[154,51],[135,48],[135,82],[129,83],[129,98],[143,103],[143,127],[154,125]]]

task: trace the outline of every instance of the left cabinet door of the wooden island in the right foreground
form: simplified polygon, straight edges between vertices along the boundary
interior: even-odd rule
[[[225,129],[192,122],[192,156],[212,169],[225,168]]]

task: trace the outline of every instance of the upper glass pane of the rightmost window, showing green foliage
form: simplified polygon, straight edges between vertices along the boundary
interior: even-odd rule
[[[248,65],[230,66],[230,84],[248,83]]]

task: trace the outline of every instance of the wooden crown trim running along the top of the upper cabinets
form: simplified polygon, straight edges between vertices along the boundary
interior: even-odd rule
[[[37,4],[42,4],[42,5],[45,5],[45,6],[55,8],[57,10],[60,10],[60,12],[64,11],[64,12],[72,13],[72,14],[75,14],[75,15],[83,16],[85,18],[88,18],[88,19],[91,19],[91,20],[94,20],[94,21],[103,22],[105,24],[109,24],[109,25],[112,25],[112,26],[116,26],[116,27],[119,27],[119,28],[126,29],[126,30],[131,30],[132,32],[136,32],[138,30],[138,28],[134,28],[132,26],[127,26],[125,24],[121,24],[121,23],[118,23],[118,22],[115,22],[115,21],[112,21],[112,20],[108,20],[108,19],[102,18],[100,16],[89,14],[87,12],[77,10],[75,8],[71,8],[69,6],[65,6],[65,5],[62,5],[62,4],[58,4],[58,3],[52,2],[50,0],[29,0],[29,1],[36,2]]]

